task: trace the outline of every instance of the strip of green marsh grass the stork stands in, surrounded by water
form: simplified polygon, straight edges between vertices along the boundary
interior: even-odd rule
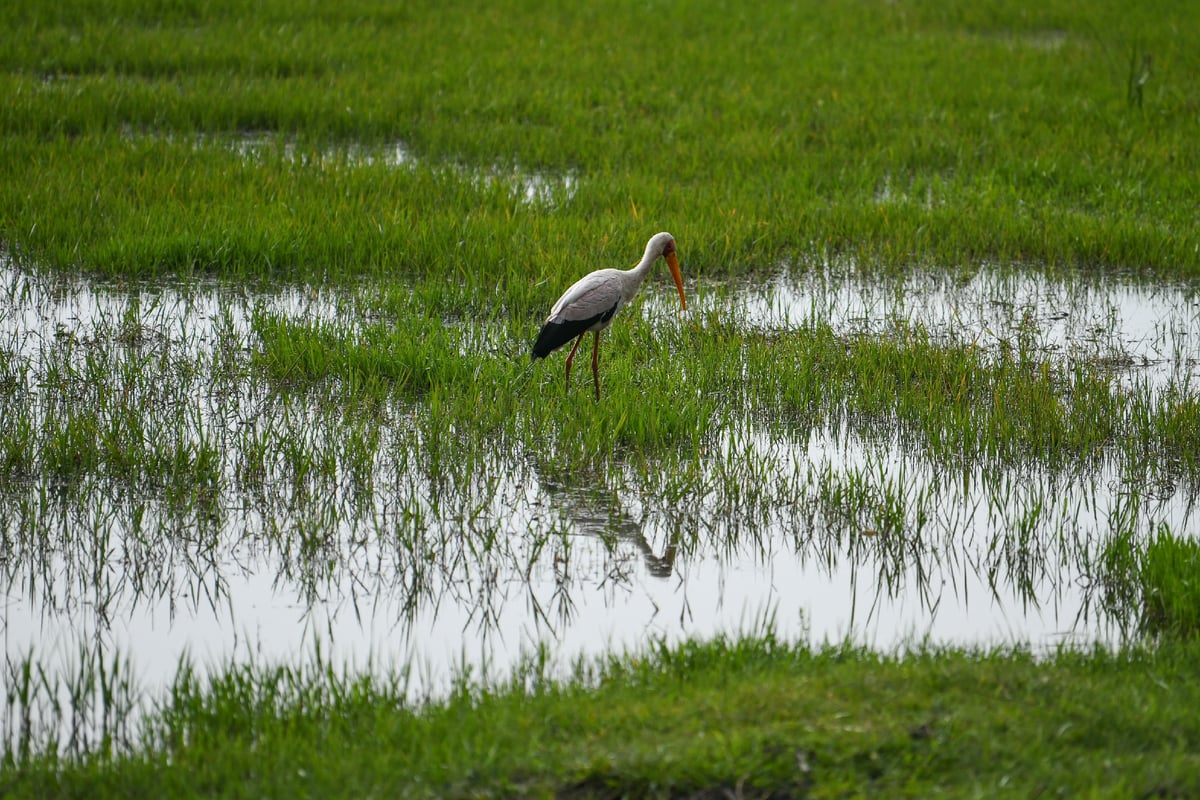
[[[523,320],[494,323],[499,354],[463,347],[412,299],[406,314],[379,324],[308,326],[260,315],[256,333],[272,380],[336,379],[352,395],[359,386],[440,390],[446,413],[470,419],[480,434],[548,434],[563,475],[595,468],[614,446],[619,456],[652,459],[694,452],[750,408],[792,425],[899,432],[935,459],[1013,469],[1063,458],[1094,465],[1109,456],[1144,469],[1150,457],[1169,461],[1189,485],[1200,480],[1194,397],[1126,387],[1104,363],[1064,365],[1021,343],[986,353],[910,324],[878,335],[840,335],[821,321],[780,333],[746,333],[736,324],[714,313],[652,330],[622,318],[602,337],[600,403],[588,397],[586,355],[569,389],[563,354],[530,371]],[[497,386],[506,391],[485,403]]]

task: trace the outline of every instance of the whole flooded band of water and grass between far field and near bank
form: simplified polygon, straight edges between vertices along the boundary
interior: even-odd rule
[[[1105,554],[1194,529],[1170,433],[1196,404],[1194,289],[792,270],[692,283],[684,317],[655,289],[606,339],[596,403],[559,357],[528,366],[521,320],[434,320],[433,359],[389,338],[412,335],[390,290],[5,265],[6,675],[98,664],[133,696],[181,663],[319,652],[427,696],[539,648],[764,619],[883,650],[1138,634]]]

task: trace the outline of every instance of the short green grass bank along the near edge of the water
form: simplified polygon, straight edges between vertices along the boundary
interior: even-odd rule
[[[656,644],[548,679],[184,668],[132,753],[22,756],[6,796],[1188,796],[1195,646],[1156,652]]]

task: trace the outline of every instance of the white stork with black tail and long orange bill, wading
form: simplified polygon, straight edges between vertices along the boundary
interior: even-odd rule
[[[575,347],[566,356],[566,385],[570,387],[571,360],[580,349],[580,342],[588,331],[592,331],[595,335],[592,343],[592,379],[595,381],[596,399],[600,399],[600,331],[608,327],[622,306],[634,299],[642,287],[642,281],[660,257],[666,260],[676,288],[679,289],[679,302],[686,309],[688,299],[683,294],[683,276],[679,275],[674,236],[666,231],[654,234],[650,241],[646,242],[642,260],[634,269],[589,272],[563,293],[550,309],[550,317],[541,326],[541,332],[538,333],[538,341],[533,345],[533,361],[545,359],[574,338]]]

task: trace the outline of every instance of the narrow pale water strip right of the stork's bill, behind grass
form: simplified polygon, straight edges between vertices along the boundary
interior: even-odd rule
[[[646,303],[664,313],[662,297],[650,295]],[[985,349],[1024,347],[1104,363],[1126,385],[1162,387],[1194,375],[1200,365],[1200,297],[1183,283],[1052,278],[988,265],[880,277],[828,265],[754,285],[714,287],[691,307],[698,319],[721,311],[761,330],[823,320],[841,332],[883,333],[906,323]]]

